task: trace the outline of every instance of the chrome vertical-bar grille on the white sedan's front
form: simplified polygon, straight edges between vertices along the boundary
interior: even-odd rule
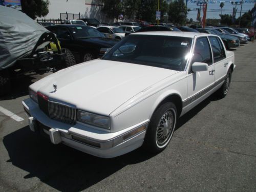
[[[51,119],[68,124],[76,124],[76,109],[57,102],[48,101],[48,112]]]

